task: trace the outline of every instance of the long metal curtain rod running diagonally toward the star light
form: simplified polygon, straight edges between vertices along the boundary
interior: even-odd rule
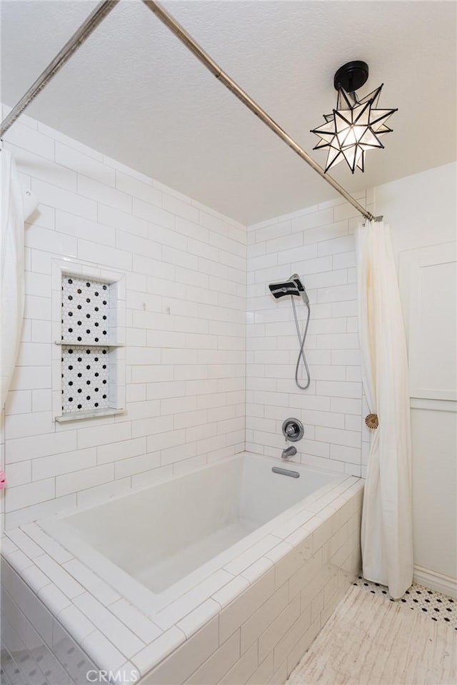
[[[143,0],[144,4],[149,7],[149,9],[156,14],[156,16],[159,17],[159,19],[167,26],[170,31],[172,31],[181,41],[181,43],[184,43],[186,48],[188,48],[191,52],[194,53],[197,59],[199,59],[204,66],[206,66],[211,73],[216,76],[216,78],[221,81],[221,83],[224,83],[224,86],[226,88],[229,88],[229,91],[235,95],[238,100],[241,100],[241,102],[246,105],[256,116],[258,116],[263,123],[268,126],[268,128],[271,128],[271,131],[273,133],[276,133],[276,136],[279,136],[281,140],[284,141],[294,152],[297,153],[299,157],[301,157],[304,161],[306,161],[311,168],[316,171],[316,173],[321,176],[324,181],[327,181],[335,190],[345,198],[348,203],[353,205],[353,207],[356,208],[358,212],[360,212],[365,218],[368,220],[376,220],[376,217],[373,216],[370,212],[368,212],[365,208],[362,207],[360,203],[356,201],[355,198],[353,198],[345,189],[340,186],[339,183],[337,183],[334,178],[331,178],[331,176],[328,176],[326,173],[324,173],[323,168],[316,163],[313,158],[311,158],[304,150],[301,148],[298,143],[296,143],[291,136],[288,136],[286,131],[283,131],[281,126],[279,126],[276,121],[274,121],[269,114],[266,113],[265,110],[261,108],[251,97],[248,96],[248,94],[243,91],[243,88],[240,88],[238,86],[238,83],[235,83],[232,78],[228,74],[225,73],[219,66],[219,64],[216,64],[214,59],[212,59],[209,54],[207,54],[204,49],[199,46],[199,44],[190,36],[186,29],[183,29],[183,27],[174,19],[169,12],[167,12],[163,7],[161,7],[157,2],[154,0]]]

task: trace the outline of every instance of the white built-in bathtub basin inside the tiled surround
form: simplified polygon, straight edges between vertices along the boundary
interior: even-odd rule
[[[273,467],[298,477],[273,473]],[[135,579],[154,594],[148,605],[157,609],[268,534],[279,514],[339,480],[334,473],[243,455],[41,525],[92,567],[96,550],[102,577],[124,594]],[[292,515],[293,509],[282,519]],[[136,591],[129,592],[134,603]],[[145,597],[141,592],[143,609]]]

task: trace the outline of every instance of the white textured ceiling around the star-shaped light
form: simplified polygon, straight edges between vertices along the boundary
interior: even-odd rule
[[[1,98],[13,105],[89,14],[89,1],[1,4]],[[169,1],[166,9],[323,166],[309,132],[336,103],[333,73],[368,62],[398,107],[350,192],[456,158],[453,1]],[[196,200],[254,223],[335,191],[187,51],[140,0],[121,0],[27,113]],[[382,210],[382,208],[379,208]]]

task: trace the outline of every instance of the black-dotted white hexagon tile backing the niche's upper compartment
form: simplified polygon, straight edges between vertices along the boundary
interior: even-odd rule
[[[66,342],[109,341],[109,284],[62,276],[62,334]]]

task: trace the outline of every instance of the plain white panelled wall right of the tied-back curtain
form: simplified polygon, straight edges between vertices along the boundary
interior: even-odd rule
[[[411,312],[421,309],[419,298],[424,296],[411,288],[407,265],[418,264],[419,259],[424,261],[428,255],[428,263],[438,263],[441,259],[436,255],[443,251],[448,253],[450,261],[456,260],[456,181],[457,165],[453,163],[376,188],[376,213],[383,214],[391,227],[398,263],[410,366],[427,368],[428,379],[443,380],[444,361],[451,384],[456,352],[450,338],[456,335],[457,284],[448,280],[448,292],[441,293],[441,302],[437,298],[431,303],[429,316],[424,311],[421,325],[412,327]],[[442,249],[433,247],[443,244],[446,246]],[[446,301],[444,308],[443,300]],[[436,342],[433,347],[433,338],[439,340],[441,335],[446,340],[441,341],[439,354],[433,354],[438,349]],[[427,345],[419,345],[424,341]],[[417,350],[426,347],[428,354],[417,357]],[[443,355],[445,360],[441,358]],[[453,390],[455,395],[456,388]],[[448,392],[440,392],[440,388],[421,393],[411,390],[411,394],[416,395],[411,400],[416,578],[430,587],[455,593],[457,402],[448,400]],[[421,395],[419,399],[418,395]]]

